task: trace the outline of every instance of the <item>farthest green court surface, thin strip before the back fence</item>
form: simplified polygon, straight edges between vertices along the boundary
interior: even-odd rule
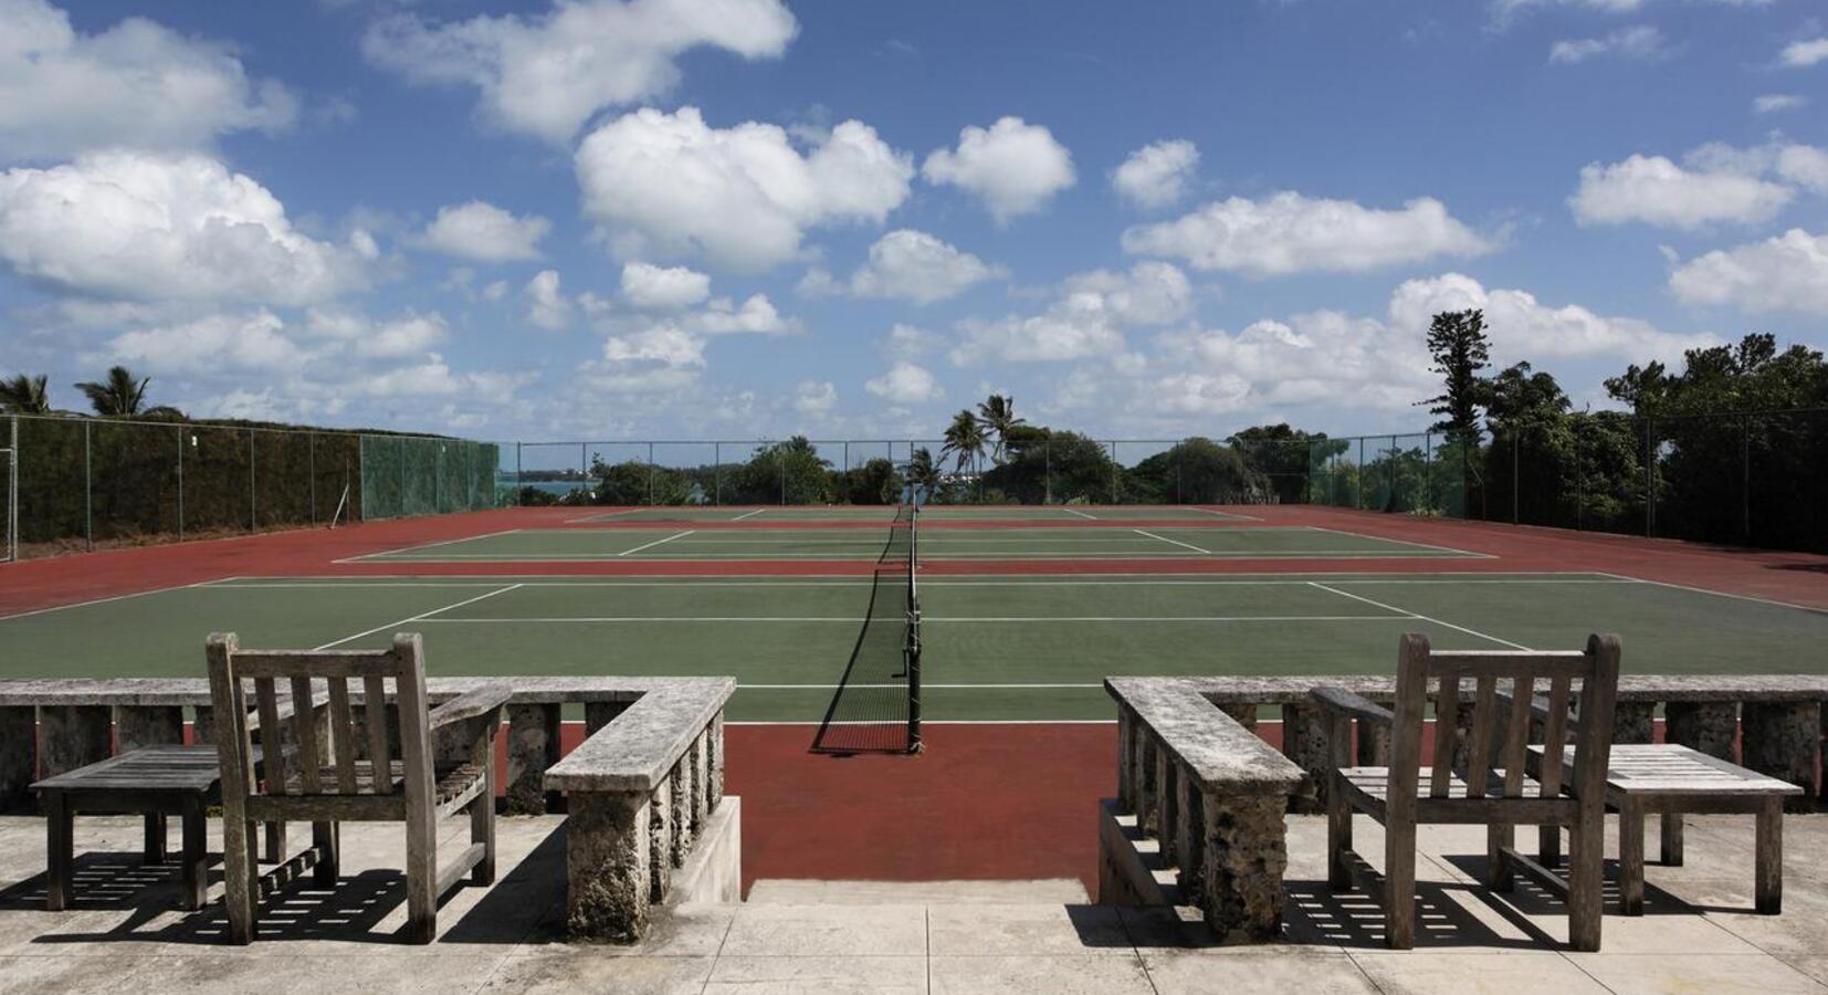
[[[569,521],[888,521],[894,505],[740,505],[667,507],[589,512]],[[1194,505],[930,505],[923,521],[1258,521],[1256,518]]]

